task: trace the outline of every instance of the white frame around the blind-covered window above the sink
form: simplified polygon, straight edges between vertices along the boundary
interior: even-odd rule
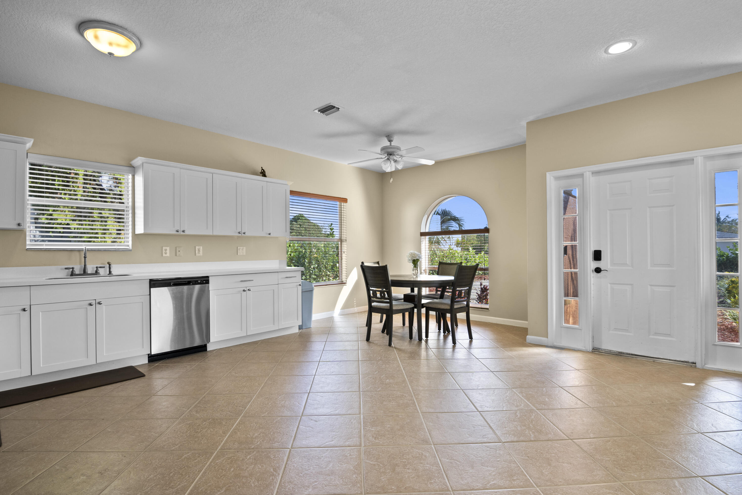
[[[31,222],[30,204],[33,197],[29,195],[30,177],[29,171],[31,165],[52,165],[65,168],[76,168],[89,171],[92,173],[111,173],[122,174],[125,176],[125,206],[119,208],[122,210],[125,230],[127,232],[127,243],[121,243],[120,246],[101,246],[100,243],[74,243],[69,246],[45,246],[45,243],[30,243],[30,232],[33,230]],[[25,217],[26,217],[26,250],[27,251],[79,251],[84,247],[89,251],[131,251],[134,241],[134,167],[126,165],[114,165],[111,163],[90,162],[88,160],[76,160],[73,158],[52,157],[43,154],[28,153],[26,159],[26,174],[24,177],[24,199],[25,199]],[[37,204],[39,202],[36,202]],[[105,205],[106,203],[101,203]]]

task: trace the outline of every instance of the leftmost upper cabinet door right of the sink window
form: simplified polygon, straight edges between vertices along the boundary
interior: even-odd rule
[[[143,232],[180,231],[180,168],[144,165]]]

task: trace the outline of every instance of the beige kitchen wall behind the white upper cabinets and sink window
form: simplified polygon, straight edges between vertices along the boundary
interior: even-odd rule
[[[33,138],[31,153],[129,165],[136,157],[188,163],[293,181],[291,189],[348,198],[348,267],[381,258],[381,174],[197,128],[0,84],[0,134]],[[27,251],[25,232],[0,230],[0,266],[82,264],[79,251]],[[162,257],[162,246],[183,246],[183,257]],[[203,256],[194,255],[203,246]],[[247,255],[237,256],[237,246]],[[174,254],[174,253],[173,253]],[[91,252],[89,262],[285,260],[286,238],[134,235],[131,252]],[[315,289],[314,312],[335,309],[344,286]],[[362,283],[342,308],[365,306]]]

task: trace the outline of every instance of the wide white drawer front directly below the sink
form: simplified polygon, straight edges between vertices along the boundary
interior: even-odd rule
[[[66,303],[89,299],[149,295],[149,281],[59,283],[31,287],[31,304]]]

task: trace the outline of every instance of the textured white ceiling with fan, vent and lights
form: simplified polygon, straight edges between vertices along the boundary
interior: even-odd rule
[[[503,148],[532,119],[742,71],[739,0],[0,4],[0,82],[341,163],[390,133],[433,160]],[[91,19],[142,49],[99,53]]]

